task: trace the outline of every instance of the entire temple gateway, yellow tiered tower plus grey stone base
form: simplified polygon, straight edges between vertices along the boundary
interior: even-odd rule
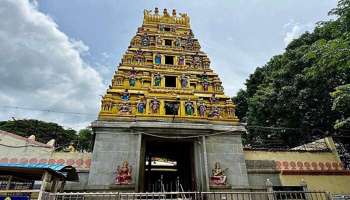
[[[174,9],[143,13],[142,26],[92,123],[95,143],[87,185],[103,191],[154,191],[159,178],[165,185],[178,177],[185,191],[217,190],[222,186],[211,176],[219,162],[229,168],[225,189],[246,188],[240,138],[245,129],[190,29],[189,16],[176,15]],[[114,184],[116,166],[124,161],[132,165],[130,184]]]

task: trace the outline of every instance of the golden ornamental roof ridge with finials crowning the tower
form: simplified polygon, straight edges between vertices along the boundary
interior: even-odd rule
[[[178,26],[183,26],[189,28],[189,16],[187,16],[187,13],[179,13],[179,16],[176,16],[176,10],[172,9],[172,12],[170,15],[167,12],[167,9],[164,8],[163,15],[159,15],[159,10],[157,7],[154,8],[154,13],[151,13],[152,10],[143,10],[143,23],[173,23]]]

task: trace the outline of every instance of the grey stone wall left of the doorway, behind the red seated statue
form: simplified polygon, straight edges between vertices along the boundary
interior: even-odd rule
[[[138,166],[138,139],[139,135],[134,133],[96,133],[87,184],[114,184],[117,175],[116,166],[121,166],[123,161],[128,161],[128,165],[132,165],[131,183],[135,183]]]

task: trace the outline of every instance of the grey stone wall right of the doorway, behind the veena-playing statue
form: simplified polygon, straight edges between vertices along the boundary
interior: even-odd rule
[[[205,147],[209,176],[212,176],[211,169],[217,161],[220,163],[220,168],[229,168],[224,172],[228,184],[248,185],[240,134],[206,136]]]

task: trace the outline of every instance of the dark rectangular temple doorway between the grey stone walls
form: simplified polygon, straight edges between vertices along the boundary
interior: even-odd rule
[[[143,190],[194,191],[193,142],[146,141]]]

